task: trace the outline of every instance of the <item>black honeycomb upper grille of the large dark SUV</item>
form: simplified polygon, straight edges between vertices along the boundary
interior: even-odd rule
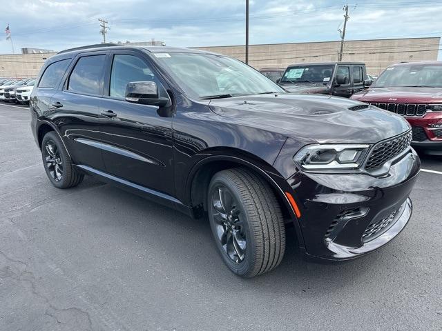
[[[376,170],[381,168],[385,162],[394,159],[405,151],[412,142],[412,132],[407,132],[399,137],[376,143],[369,154],[365,170]]]

